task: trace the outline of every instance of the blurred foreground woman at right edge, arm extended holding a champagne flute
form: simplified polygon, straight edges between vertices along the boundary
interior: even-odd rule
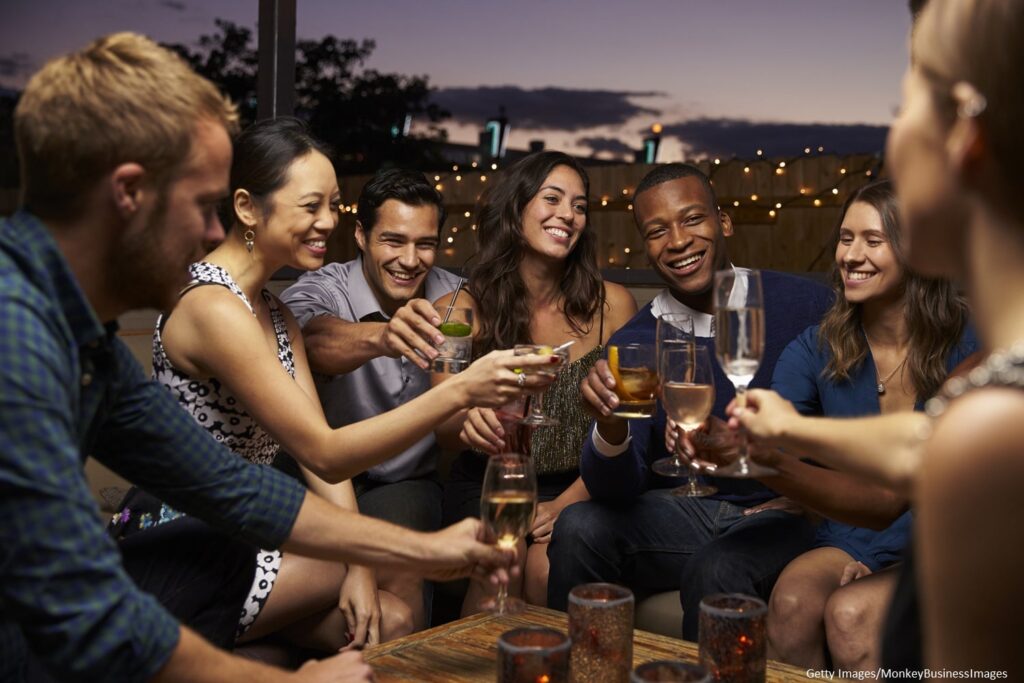
[[[908,264],[959,279],[987,354],[926,416],[801,418],[770,392],[735,411],[760,441],[912,490],[913,552],[883,666],[1024,676],[1024,3],[930,0],[886,162]]]

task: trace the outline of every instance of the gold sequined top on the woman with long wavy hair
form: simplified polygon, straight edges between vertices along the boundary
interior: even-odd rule
[[[538,427],[530,455],[538,475],[580,471],[580,450],[590,433],[591,417],[580,400],[580,384],[601,357],[600,344],[580,356],[562,372],[544,394],[544,412],[558,419],[558,426]]]

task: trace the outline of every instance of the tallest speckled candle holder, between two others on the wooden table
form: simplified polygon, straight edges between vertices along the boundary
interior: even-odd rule
[[[633,668],[633,592],[613,584],[569,591],[572,680],[628,683]]]

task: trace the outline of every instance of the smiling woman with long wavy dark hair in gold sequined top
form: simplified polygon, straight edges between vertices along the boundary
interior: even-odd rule
[[[457,304],[474,313],[474,353],[516,344],[556,347],[568,341],[569,361],[544,396],[544,411],[558,426],[538,427],[530,454],[538,473],[539,500],[532,542],[526,553],[524,597],[547,601],[547,544],[559,512],[588,498],[580,478],[580,451],[590,417],[580,403],[580,382],[608,337],[636,312],[622,286],[605,283],[597,264],[597,239],[588,224],[587,172],[572,157],[541,152],[516,162],[481,200],[477,217],[479,251]],[[451,296],[439,303],[447,303]],[[445,514],[461,519],[479,514],[486,466],[481,454],[499,453],[504,429],[494,410],[469,411],[445,425],[441,438],[463,452],[446,486]],[[475,611],[471,590],[464,612]]]

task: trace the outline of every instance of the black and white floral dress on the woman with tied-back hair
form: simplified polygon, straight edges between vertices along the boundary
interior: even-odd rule
[[[242,288],[236,284],[227,271],[212,263],[199,262],[189,266],[191,282],[185,288],[189,289],[218,285],[226,287],[253,313],[256,314]],[[261,291],[263,300],[270,310],[274,335],[278,338],[278,359],[288,374],[295,377],[295,360],[292,355],[292,344],[288,337],[285,316],[278,307],[276,300],[266,290]],[[185,375],[175,368],[167,357],[161,333],[164,327],[164,316],[157,321],[157,329],[153,336],[153,375],[154,379],[163,384],[177,401],[210,434],[225,446],[246,460],[269,465],[278,454],[280,445],[238,402],[234,396],[216,379],[198,380]],[[162,504],[157,514],[133,514],[125,508],[115,515],[115,524],[130,525],[137,530],[168,522],[183,513],[174,510],[166,503]],[[266,603],[273,583],[281,569],[281,551],[260,550],[256,557],[256,572],[252,588],[242,607],[239,617],[237,637],[242,636],[256,615]]]

